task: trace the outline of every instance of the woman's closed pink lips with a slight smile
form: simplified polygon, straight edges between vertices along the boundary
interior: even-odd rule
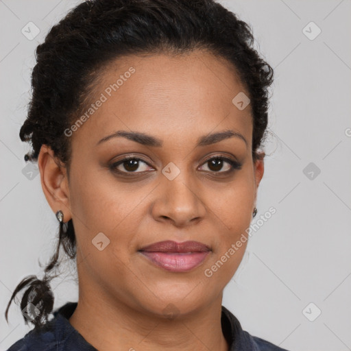
[[[190,271],[200,265],[210,248],[198,241],[159,241],[141,248],[141,254],[168,271]]]

